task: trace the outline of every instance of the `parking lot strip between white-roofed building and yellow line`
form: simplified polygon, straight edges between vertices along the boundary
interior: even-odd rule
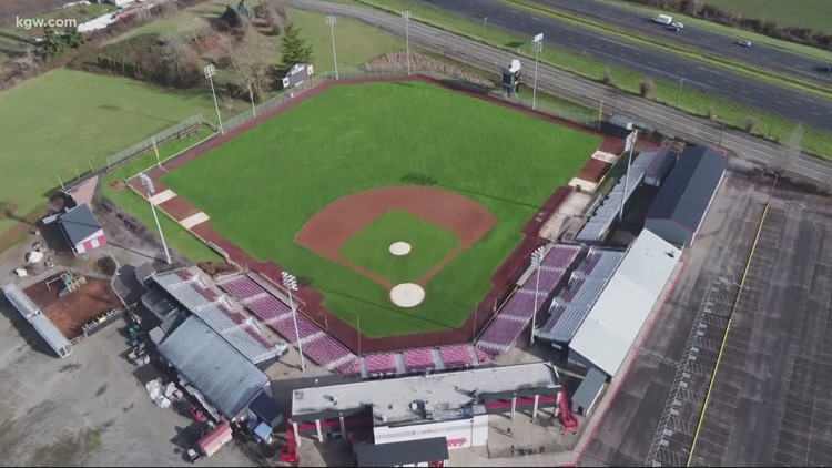
[[[749,176],[729,172],[697,243],[686,253],[672,295],[587,448],[585,465],[687,460],[683,450],[704,396],[694,390],[710,378],[727,322],[722,316],[730,309],[765,195]]]

